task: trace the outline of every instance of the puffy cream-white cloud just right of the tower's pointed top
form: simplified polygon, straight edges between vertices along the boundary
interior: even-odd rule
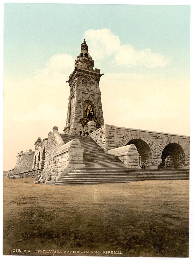
[[[136,50],[130,44],[121,45],[119,37],[114,35],[110,29],[89,29],[84,33],[84,38],[86,38],[86,42],[91,49],[94,61],[113,55],[113,62],[116,65],[128,67],[145,66],[153,68],[169,64],[168,57],[151,52],[150,49]]]

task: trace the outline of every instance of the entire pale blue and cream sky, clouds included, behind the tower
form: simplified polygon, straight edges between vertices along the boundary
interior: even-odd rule
[[[189,135],[189,6],[5,3],[4,170],[62,133],[84,38],[106,124]]]

